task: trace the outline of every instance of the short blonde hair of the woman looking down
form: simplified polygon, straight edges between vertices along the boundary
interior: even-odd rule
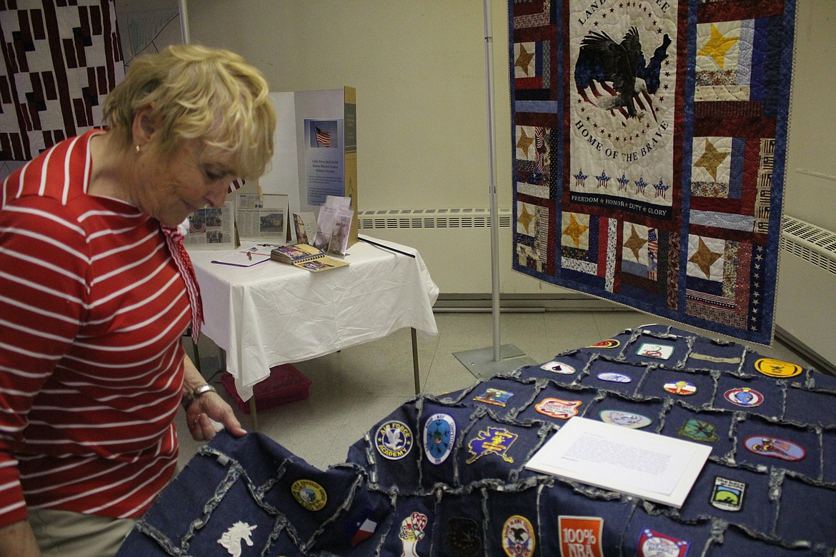
[[[161,152],[189,139],[230,157],[238,177],[263,175],[273,156],[276,114],[262,74],[236,53],[181,44],[136,58],[104,102],[104,122],[127,149],[135,114],[151,106]]]

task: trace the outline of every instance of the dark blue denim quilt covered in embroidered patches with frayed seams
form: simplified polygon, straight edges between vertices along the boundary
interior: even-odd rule
[[[836,377],[671,327],[421,395],[319,470],[221,433],[120,557],[801,557],[836,550]],[[711,447],[681,508],[536,473],[574,417]]]

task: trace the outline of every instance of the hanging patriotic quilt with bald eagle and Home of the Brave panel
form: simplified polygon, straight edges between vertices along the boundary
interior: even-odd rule
[[[770,344],[794,0],[510,0],[513,269]]]

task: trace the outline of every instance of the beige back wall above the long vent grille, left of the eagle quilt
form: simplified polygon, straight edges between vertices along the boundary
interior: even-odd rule
[[[493,2],[500,206],[510,207],[507,10]],[[275,91],[357,89],[359,210],[487,207],[482,2],[189,0],[193,43]]]

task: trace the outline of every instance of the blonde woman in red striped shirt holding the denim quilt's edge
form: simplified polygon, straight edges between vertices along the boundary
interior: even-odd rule
[[[115,553],[175,471],[181,403],[197,440],[246,433],[181,347],[201,307],[178,225],[263,174],[267,84],[172,47],[104,116],[0,189],[0,554]]]

